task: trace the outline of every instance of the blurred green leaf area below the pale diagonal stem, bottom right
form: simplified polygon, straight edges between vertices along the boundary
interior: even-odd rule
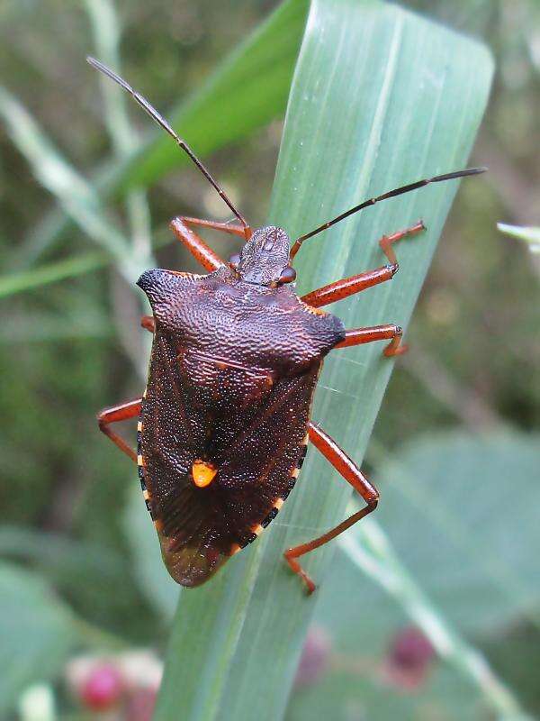
[[[366,554],[354,531],[345,539],[347,546],[356,544]],[[359,574],[340,548],[328,583],[320,591],[311,634],[317,629],[327,638],[326,669],[311,684],[293,689],[287,721],[313,717],[347,721],[351,716],[370,721],[478,721],[491,717],[490,701],[477,681],[446,660],[434,659],[427,677],[413,690],[384,679],[383,666],[396,635],[410,625],[419,627],[417,619],[403,607],[400,590],[390,595],[378,580]],[[436,627],[430,630],[437,633]],[[483,672],[485,663],[479,663],[478,668]],[[486,679],[491,680],[491,676],[486,675]]]

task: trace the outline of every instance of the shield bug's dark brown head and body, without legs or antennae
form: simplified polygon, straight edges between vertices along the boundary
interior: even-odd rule
[[[184,585],[206,580],[276,515],[303,460],[322,359],[345,338],[337,317],[275,285],[288,255],[284,231],[262,228],[236,269],[139,279],[156,326],[141,478],[167,568]]]

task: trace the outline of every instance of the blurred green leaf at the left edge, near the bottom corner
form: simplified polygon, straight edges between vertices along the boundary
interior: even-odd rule
[[[78,642],[70,611],[30,571],[0,563],[0,714],[31,683],[49,680]]]

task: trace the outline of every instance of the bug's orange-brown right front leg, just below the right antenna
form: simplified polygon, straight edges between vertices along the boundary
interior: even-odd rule
[[[426,226],[420,220],[418,223],[411,225],[410,228],[406,228],[404,231],[392,233],[392,235],[383,235],[383,238],[379,241],[379,245],[383,249],[383,253],[386,255],[388,260],[390,260],[391,265],[384,265],[381,268],[368,270],[365,273],[360,273],[356,276],[352,276],[351,278],[337,280],[335,283],[330,283],[329,286],[312,290],[311,293],[308,293],[306,296],[302,296],[303,302],[315,308],[327,306],[329,303],[335,303],[337,300],[343,300],[343,298],[353,296],[355,293],[359,293],[367,287],[373,287],[379,283],[383,283],[385,280],[390,280],[394,277],[399,268],[398,261],[396,260],[396,254],[392,248],[392,243],[401,240],[401,238],[404,238],[406,235],[419,233],[425,229]]]

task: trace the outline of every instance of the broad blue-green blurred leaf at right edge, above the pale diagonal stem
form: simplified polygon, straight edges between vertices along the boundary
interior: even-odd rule
[[[422,589],[455,625],[487,633],[526,616],[540,626],[536,436],[427,436],[382,462],[378,520]],[[411,529],[414,542],[411,543]]]

